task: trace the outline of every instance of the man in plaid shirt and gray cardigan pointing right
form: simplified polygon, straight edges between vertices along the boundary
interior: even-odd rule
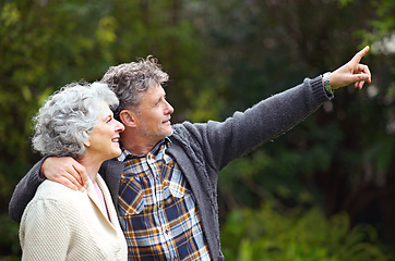
[[[168,75],[153,58],[104,75],[120,100],[122,154],[99,171],[117,206],[129,260],[223,260],[217,178],[229,162],[291,128],[334,98],[333,90],[371,82],[360,64],[369,47],[332,73],[265,99],[224,122],[170,124],[173,108],[161,86]],[[242,174],[242,173],[240,173]],[[10,214],[19,221],[46,176],[73,189],[85,170],[70,158],[45,158],[17,185]]]

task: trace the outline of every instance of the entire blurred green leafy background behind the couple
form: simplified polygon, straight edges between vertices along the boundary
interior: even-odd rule
[[[1,0],[0,260],[19,260],[14,186],[39,156],[31,120],[61,86],[148,54],[173,122],[225,120],[363,58],[373,83],[337,90],[219,175],[227,260],[395,260],[392,0]]]

